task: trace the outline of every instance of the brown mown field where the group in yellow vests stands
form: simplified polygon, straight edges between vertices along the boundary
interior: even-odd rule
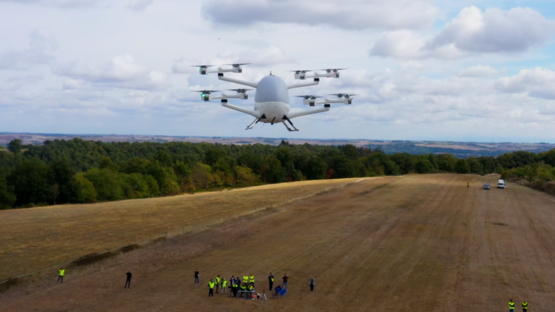
[[[482,190],[486,180],[365,180],[69,272],[63,285],[20,286],[0,295],[0,310],[501,311],[513,298],[552,311],[555,199],[515,184]],[[261,291],[269,271],[290,276],[286,298],[207,297],[216,274],[254,273]]]

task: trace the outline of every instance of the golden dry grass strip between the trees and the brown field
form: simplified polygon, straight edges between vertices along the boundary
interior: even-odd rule
[[[355,180],[304,181],[165,198],[0,210],[0,279],[184,227],[218,222]]]

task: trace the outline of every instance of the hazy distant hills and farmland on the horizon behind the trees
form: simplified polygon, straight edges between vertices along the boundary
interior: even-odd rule
[[[42,144],[45,140],[70,140],[75,137],[84,140],[102,142],[206,142],[220,144],[269,144],[279,145],[281,140],[290,144],[346,145],[357,147],[380,148],[386,153],[406,152],[410,154],[450,153],[456,157],[497,156],[503,153],[527,150],[541,153],[555,148],[549,143],[476,143],[476,142],[441,142],[441,141],[410,141],[410,140],[365,140],[365,139],[291,139],[291,138],[240,138],[240,137],[179,137],[166,135],[134,135],[134,134],[47,134],[47,133],[0,133],[0,145],[6,145],[13,139],[21,139],[23,144]]]

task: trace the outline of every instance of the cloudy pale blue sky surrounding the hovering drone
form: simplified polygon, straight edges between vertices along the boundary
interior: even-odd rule
[[[0,132],[554,143],[554,38],[547,0],[0,0]],[[347,68],[292,112],[359,95],[244,130],[193,92],[240,88],[191,67],[229,63]]]

